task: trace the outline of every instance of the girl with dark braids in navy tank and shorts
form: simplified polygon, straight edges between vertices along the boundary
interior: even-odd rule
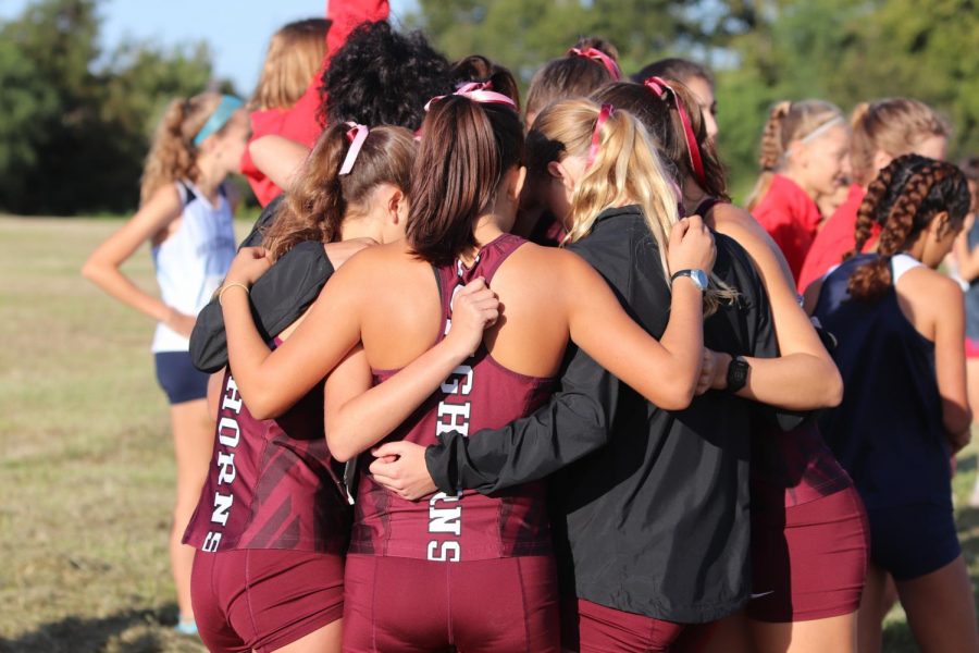
[[[969,442],[962,289],[937,271],[969,212],[965,176],[918,155],[891,161],[857,214],[853,255],[806,291],[839,338],[846,392],[820,417],[867,507],[863,651],[880,651],[887,575],[922,651],[979,651],[955,530],[949,458]],[[862,254],[872,224],[876,252]]]

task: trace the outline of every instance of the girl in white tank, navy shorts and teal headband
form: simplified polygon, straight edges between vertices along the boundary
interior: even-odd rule
[[[235,256],[235,231],[224,178],[237,169],[248,137],[241,101],[205,93],[170,103],[146,158],[136,214],[96,248],[82,273],[123,304],[154,319],[157,379],[170,399],[177,467],[170,564],[179,623],[197,632],[190,607],[194,549],[181,538],[203,484],[214,441],[207,374],[194,369],[188,337]],[[152,244],[162,298],[139,288],[120,268]]]

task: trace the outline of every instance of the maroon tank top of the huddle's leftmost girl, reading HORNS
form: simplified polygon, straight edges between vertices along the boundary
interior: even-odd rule
[[[212,465],[184,543],[343,553],[352,510],[340,472],[323,433],[322,382],[283,416],[259,420],[225,372]]]

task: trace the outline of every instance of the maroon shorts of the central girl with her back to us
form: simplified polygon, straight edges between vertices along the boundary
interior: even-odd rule
[[[554,559],[347,556],[344,652],[560,652]]]

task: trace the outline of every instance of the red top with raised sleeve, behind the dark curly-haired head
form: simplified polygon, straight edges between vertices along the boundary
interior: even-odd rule
[[[317,112],[323,97],[320,93],[320,77],[333,54],[347,41],[350,33],[361,23],[384,21],[389,12],[387,0],[333,0],[326,4],[326,17],[332,21],[326,32],[326,56],[323,67],[310,79],[306,94],[289,109],[270,109],[251,113],[250,145],[256,138],[275,134],[312,147],[323,132],[324,125],[317,120]],[[282,189],[272,183],[251,160],[248,148],[241,157],[241,174],[255,192],[263,207],[275,199]]]

